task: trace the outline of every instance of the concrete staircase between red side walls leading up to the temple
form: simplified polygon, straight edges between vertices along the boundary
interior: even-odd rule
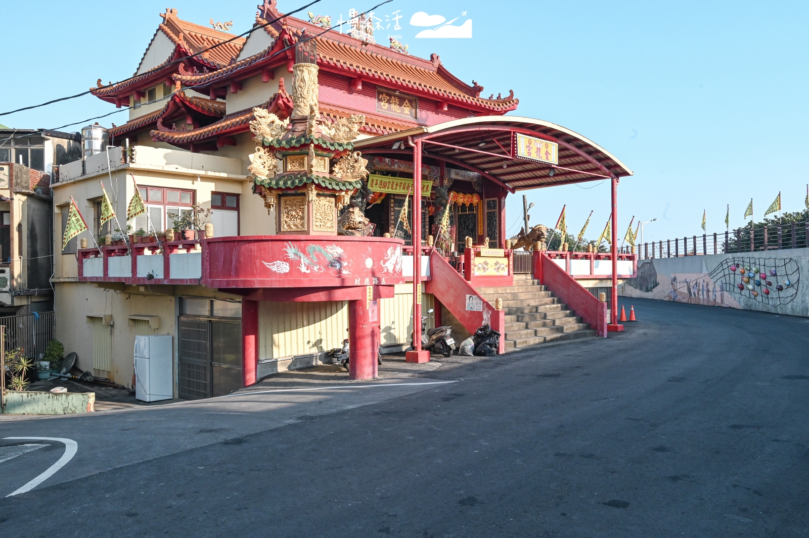
[[[500,288],[477,288],[486,301],[494,304],[500,297],[506,312],[506,351],[542,343],[590,338],[595,330],[573,310],[561,303],[547,286],[531,275],[515,275],[514,285]]]

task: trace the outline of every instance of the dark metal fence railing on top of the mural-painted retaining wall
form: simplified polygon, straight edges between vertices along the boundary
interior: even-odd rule
[[[807,248],[809,221],[777,226],[738,228],[635,245],[638,259],[679,258],[704,254],[731,254]]]

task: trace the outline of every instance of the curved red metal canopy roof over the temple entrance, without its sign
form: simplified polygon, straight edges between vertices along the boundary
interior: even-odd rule
[[[512,137],[526,134],[559,145],[558,164],[512,155]],[[510,192],[566,183],[618,179],[632,175],[625,164],[577,132],[519,116],[477,116],[354,142],[363,154],[413,154],[415,141],[423,158],[445,161],[484,175]]]

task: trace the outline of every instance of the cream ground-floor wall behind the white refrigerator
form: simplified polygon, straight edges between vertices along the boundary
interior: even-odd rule
[[[172,335],[176,364],[175,297],[120,293],[96,288],[92,283],[57,282],[54,287],[56,338],[65,345],[66,353],[76,352],[78,368],[90,370],[95,376],[108,377],[121,385],[131,385],[136,334]],[[109,371],[97,368],[94,371],[93,368],[94,319],[99,314],[112,316],[112,326],[109,321],[102,322],[111,333],[112,370]],[[159,329],[146,329],[148,322],[144,326],[142,322],[130,320],[129,316],[133,315],[159,316]]]

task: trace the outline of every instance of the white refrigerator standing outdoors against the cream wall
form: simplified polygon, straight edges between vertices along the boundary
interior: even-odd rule
[[[172,350],[171,335],[135,337],[135,397],[138,400],[172,399]]]

